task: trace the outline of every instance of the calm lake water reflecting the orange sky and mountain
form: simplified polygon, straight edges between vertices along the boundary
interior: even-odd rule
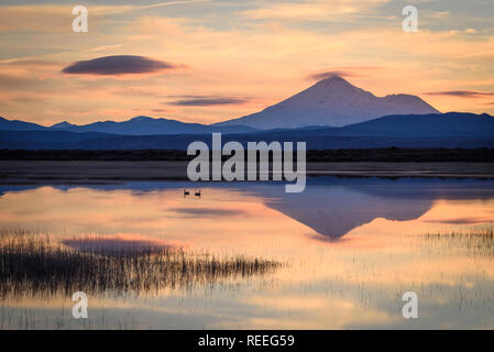
[[[184,187],[199,186],[200,199],[184,198]],[[7,231],[61,243],[167,243],[283,265],[187,288],[88,295],[87,320],[73,318],[68,295],[7,295],[0,327],[493,329],[494,244],[468,237],[493,220],[492,180],[318,177],[292,195],[272,183],[3,186]],[[402,317],[410,290],[418,319]]]

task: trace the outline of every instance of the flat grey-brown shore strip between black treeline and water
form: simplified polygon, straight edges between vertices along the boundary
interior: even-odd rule
[[[185,161],[0,161],[0,185],[188,180],[187,164]],[[307,163],[307,176],[494,179],[494,163]]]

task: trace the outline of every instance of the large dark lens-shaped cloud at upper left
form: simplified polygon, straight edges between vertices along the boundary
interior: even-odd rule
[[[152,74],[177,67],[179,66],[144,56],[114,55],[77,62],[65,67],[62,72],[70,75],[118,76]]]

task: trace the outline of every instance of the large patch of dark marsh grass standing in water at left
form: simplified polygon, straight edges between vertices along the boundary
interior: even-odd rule
[[[47,235],[0,232],[0,299],[190,289],[274,272],[281,264],[245,256],[215,256],[155,248],[80,252]]]

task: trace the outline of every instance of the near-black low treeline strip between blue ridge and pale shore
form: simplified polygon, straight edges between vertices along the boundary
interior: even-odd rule
[[[294,153],[294,156],[296,153]],[[246,156],[246,153],[245,153]],[[223,156],[223,160],[229,156]],[[0,150],[0,161],[189,161],[185,151],[171,150]],[[494,148],[355,148],[307,151],[307,162],[494,162]]]

